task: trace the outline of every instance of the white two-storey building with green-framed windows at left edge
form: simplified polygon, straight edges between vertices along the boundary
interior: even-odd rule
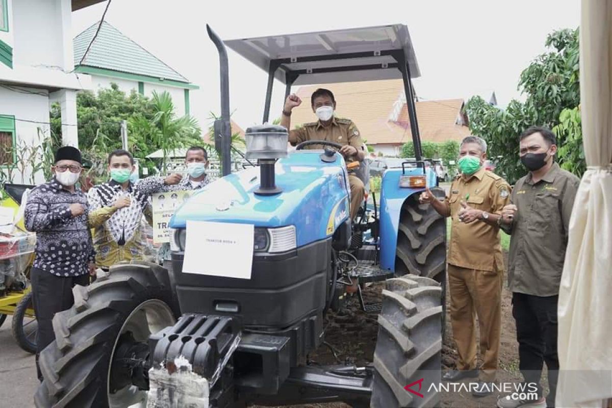
[[[0,175],[17,165],[18,149],[50,135],[50,100],[61,103],[64,144],[77,146],[76,91],[91,89],[74,72],[72,12],[103,0],[0,0]],[[19,150],[21,152],[23,150]],[[31,166],[13,174],[28,181]],[[35,177],[42,182],[42,173]]]

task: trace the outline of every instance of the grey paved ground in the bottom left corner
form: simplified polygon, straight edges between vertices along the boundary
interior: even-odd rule
[[[34,391],[39,384],[34,355],[17,346],[10,325],[9,316],[0,327],[0,407],[33,407]]]

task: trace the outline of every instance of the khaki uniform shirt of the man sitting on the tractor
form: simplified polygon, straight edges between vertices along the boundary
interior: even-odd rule
[[[291,138],[295,136],[297,143],[302,143],[307,140],[326,140],[341,144],[342,146],[350,145],[357,150],[363,147],[363,141],[357,126],[349,119],[340,119],[333,117],[332,122],[324,126],[321,121],[303,124],[301,127],[291,130]],[[306,149],[321,149],[321,146],[307,146]],[[354,161],[349,158],[346,161]]]

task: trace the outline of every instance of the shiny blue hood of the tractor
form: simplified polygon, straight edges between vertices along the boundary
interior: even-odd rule
[[[277,195],[256,195],[259,168],[230,174],[206,185],[181,206],[171,228],[185,228],[187,220],[253,224],[258,227],[294,225],[297,245],[323,239],[348,218],[348,178],[337,154],[324,163],[321,151],[291,152],[275,165]]]

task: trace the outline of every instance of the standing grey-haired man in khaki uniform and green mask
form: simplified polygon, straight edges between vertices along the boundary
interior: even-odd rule
[[[451,217],[448,255],[450,322],[457,345],[457,369],[442,377],[457,381],[479,377],[474,396],[489,395],[498,368],[501,289],[504,263],[498,221],[509,202],[506,180],[483,168],[487,143],[476,136],[461,142],[461,170],[444,201],[427,189],[419,198],[444,217]],[[476,368],[476,321],[480,325],[482,370]]]

